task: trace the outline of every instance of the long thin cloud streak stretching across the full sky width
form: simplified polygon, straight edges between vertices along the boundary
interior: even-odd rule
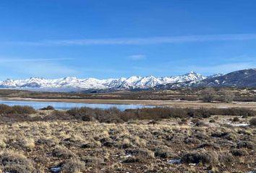
[[[174,37],[96,38],[80,40],[38,40],[0,42],[1,45],[69,46],[69,45],[150,45],[210,41],[256,40],[256,34],[182,35]]]

